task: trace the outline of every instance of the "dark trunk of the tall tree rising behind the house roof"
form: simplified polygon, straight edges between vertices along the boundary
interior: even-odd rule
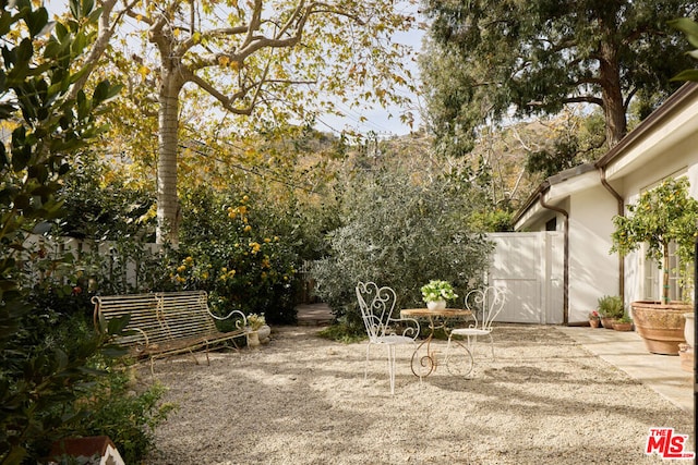
[[[606,121],[606,143],[612,148],[625,136],[627,120],[621,89],[618,51],[610,36],[601,42],[600,77],[601,99]]]

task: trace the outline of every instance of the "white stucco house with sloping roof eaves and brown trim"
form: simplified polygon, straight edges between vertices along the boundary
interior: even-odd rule
[[[540,192],[549,205],[569,212],[570,323],[585,321],[600,296],[617,295],[621,279],[626,304],[643,298],[643,257],[637,253],[628,255],[621,277],[617,254],[609,254],[617,201],[603,187],[599,167],[626,205],[637,201],[641,192],[663,179],[677,175],[688,178],[690,194],[698,198],[698,85],[682,87],[615,150],[592,171],[582,167],[578,172],[550,178],[547,188],[541,185]],[[557,231],[562,231],[562,215],[531,203],[521,212],[516,228],[543,231],[545,222],[554,217]]]

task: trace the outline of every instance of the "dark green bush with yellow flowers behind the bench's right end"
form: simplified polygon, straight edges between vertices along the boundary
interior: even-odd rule
[[[183,258],[170,272],[173,286],[207,291],[212,308],[222,315],[239,309],[264,314],[273,323],[292,322],[297,256],[264,223],[267,215],[248,195],[220,206],[216,218],[210,213],[215,201],[202,198],[201,204],[206,217],[184,216],[180,244],[186,245],[180,245]]]

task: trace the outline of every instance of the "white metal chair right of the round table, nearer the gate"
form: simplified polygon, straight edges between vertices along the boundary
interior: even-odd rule
[[[448,334],[446,353],[450,348],[450,340],[454,335],[467,338],[467,345],[474,354],[474,345],[478,336],[489,336],[494,359],[494,341],[492,340],[492,322],[500,315],[506,302],[506,290],[503,287],[489,286],[476,289],[466,295],[466,307],[472,311],[473,321],[468,328],[456,328]]]

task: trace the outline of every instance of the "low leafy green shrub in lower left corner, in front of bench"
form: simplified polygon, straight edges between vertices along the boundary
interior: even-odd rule
[[[43,390],[40,407],[29,417],[15,413],[7,418],[12,421],[9,432],[19,431],[22,425],[29,427],[29,421],[41,425],[40,431],[26,435],[22,444],[25,452],[39,457],[52,441],[105,435],[117,444],[127,463],[141,462],[155,445],[154,429],[174,408],[160,403],[164,388],[155,384],[137,392],[134,371],[111,358],[124,353],[105,346],[92,321],[80,313],[69,315],[44,308],[27,316],[23,329],[15,344],[29,354],[32,371],[24,371],[26,365],[22,372],[5,365],[2,378],[13,386],[0,389],[0,399],[8,407],[27,402],[24,396],[33,395],[35,387]],[[99,346],[108,351],[101,355]],[[9,360],[4,358],[5,363]],[[71,384],[63,386],[68,381]]]

